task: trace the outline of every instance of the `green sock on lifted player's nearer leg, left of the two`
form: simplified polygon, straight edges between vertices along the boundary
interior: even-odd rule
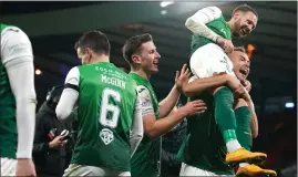
[[[214,95],[215,118],[222,133],[227,129],[236,129],[236,117],[233,111],[234,95],[228,87],[222,87]],[[225,139],[225,143],[230,139]]]

